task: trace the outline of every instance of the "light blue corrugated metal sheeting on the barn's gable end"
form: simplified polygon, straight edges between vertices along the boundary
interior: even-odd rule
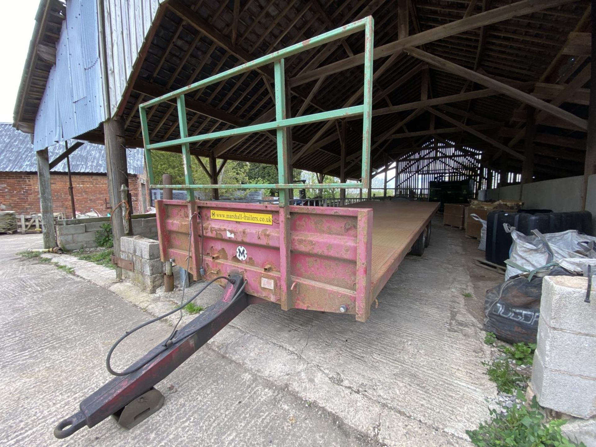
[[[33,148],[91,131],[104,121],[97,2],[68,0],[56,64],[35,119]]]

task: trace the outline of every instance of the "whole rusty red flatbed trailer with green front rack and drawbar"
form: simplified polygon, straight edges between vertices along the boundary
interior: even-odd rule
[[[287,117],[284,57],[327,44],[356,32],[365,33],[362,105],[298,117]],[[185,94],[233,76],[274,64],[275,120],[189,136]],[[422,254],[430,238],[430,220],[438,203],[415,201],[362,201],[344,207],[290,205],[294,188],[371,187],[370,149],[373,88],[373,18],[362,20],[266,55],[224,73],[139,105],[145,160],[151,188],[187,191],[187,200],[158,200],[156,206],[162,261],[170,259],[194,278],[207,280],[200,290],[172,311],[127,331],[111,347],[107,370],[110,382],[83,400],[79,411],[54,429],[58,438],[70,436],[83,426],[93,427],[113,415],[124,427],[132,427],[156,412],[164,402],[153,387],[215,336],[238,313],[254,303],[274,302],[282,309],[340,312],[358,321],[370,316],[373,300],[410,250]],[[151,143],[147,109],[163,102],[176,103],[179,138]],[[355,101],[349,101],[353,104]],[[293,184],[289,181],[294,154],[288,149],[287,128],[327,121],[321,136],[334,120],[362,117],[362,174],[360,182]],[[266,188],[279,190],[277,204],[195,200],[196,190],[214,185],[194,185],[190,144],[234,137],[252,132],[277,134],[277,184],[217,185],[219,189]],[[156,185],[151,151],[179,147],[184,163],[184,185]],[[309,147],[298,149],[300,156]],[[221,299],[193,321],[173,328],[166,340],[124,371],[114,371],[111,355],[130,334],[181,310],[212,283],[224,286]],[[183,291],[184,296],[184,291]]]

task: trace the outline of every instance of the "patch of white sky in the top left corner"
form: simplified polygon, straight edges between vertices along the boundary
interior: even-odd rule
[[[39,0],[3,1],[0,14],[0,122],[12,123]]]

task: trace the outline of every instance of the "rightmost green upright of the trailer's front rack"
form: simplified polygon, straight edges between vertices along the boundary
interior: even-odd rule
[[[371,126],[373,125],[373,35],[374,22],[368,18],[364,28],[364,113],[362,114],[362,182],[371,187]]]

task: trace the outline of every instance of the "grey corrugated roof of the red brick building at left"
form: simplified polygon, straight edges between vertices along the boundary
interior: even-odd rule
[[[69,145],[76,140],[70,140]],[[49,159],[53,160],[64,152],[64,143],[48,147]],[[142,149],[127,149],[128,172],[142,174]],[[105,173],[105,148],[101,144],[85,143],[70,156],[72,172]],[[31,136],[13,128],[10,123],[0,123],[0,172],[36,172],[37,162],[31,144]],[[66,160],[52,172],[67,172]]]

